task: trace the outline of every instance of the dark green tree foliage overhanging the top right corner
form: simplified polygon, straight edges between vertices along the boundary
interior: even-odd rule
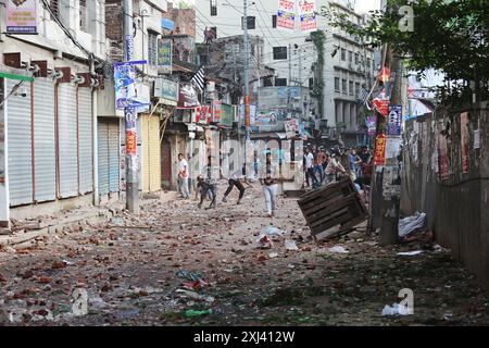
[[[414,14],[412,32],[402,30],[400,9],[410,5]],[[468,82],[476,80],[486,94],[489,80],[489,3],[487,0],[388,0],[388,11],[372,11],[366,26],[351,23],[335,8],[323,8],[330,23],[359,35],[373,47],[390,45],[408,66],[417,72],[436,69],[444,73],[450,90],[466,95]],[[480,84],[480,86],[479,86]]]

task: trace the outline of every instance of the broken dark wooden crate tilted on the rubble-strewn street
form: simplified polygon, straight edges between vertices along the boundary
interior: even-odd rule
[[[316,241],[350,231],[368,215],[350,178],[303,194],[298,203]]]

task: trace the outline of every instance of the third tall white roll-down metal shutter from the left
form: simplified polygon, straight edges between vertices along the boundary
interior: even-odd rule
[[[59,85],[58,110],[60,195],[66,198],[78,195],[76,87],[74,85]]]

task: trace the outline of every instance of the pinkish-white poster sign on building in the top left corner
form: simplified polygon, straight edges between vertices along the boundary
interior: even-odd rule
[[[37,34],[37,0],[7,0],[7,34]]]

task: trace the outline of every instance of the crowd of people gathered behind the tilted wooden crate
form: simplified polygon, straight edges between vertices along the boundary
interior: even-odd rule
[[[333,148],[325,151],[324,147],[316,151],[304,149],[305,185],[318,188],[348,176],[352,182],[364,188],[369,186],[372,174],[372,154],[368,147]]]

